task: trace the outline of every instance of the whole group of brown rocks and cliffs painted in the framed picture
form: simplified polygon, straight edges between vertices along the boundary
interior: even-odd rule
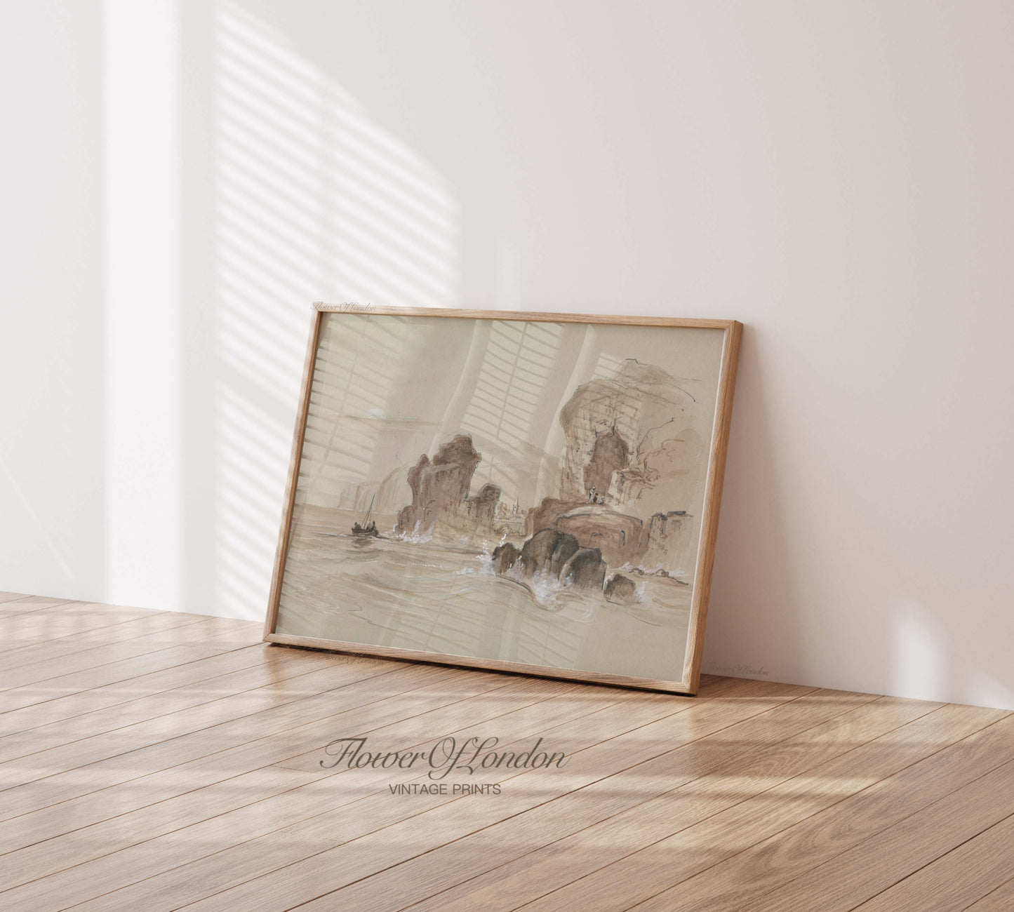
[[[432,458],[424,453],[380,482],[350,486],[342,507],[396,510],[394,532],[412,541],[488,547],[499,539],[497,576],[556,581],[633,604],[640,584],[623,575],[677,582],[693,575],[695,518],[686,508],[703,479],[707,426],[686,382],[632,359],[578,386],[557,415],[564,447],[547,476],[551,496],[535,505],[519,504],[516,489],[512,504],[501,503],[493,483],[473,493],[483,457],[472,435],[459,433]]]

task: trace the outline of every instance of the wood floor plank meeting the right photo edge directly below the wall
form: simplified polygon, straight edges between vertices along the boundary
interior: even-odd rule
[[[957,744],[632,908],[745,912],[772,890],[1000,766],[1012,749],[1014,717],[1004,713]]]

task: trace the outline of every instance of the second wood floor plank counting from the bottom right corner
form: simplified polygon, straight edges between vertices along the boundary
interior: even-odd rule
[[[966,811],[965,808],[959,809],[962,818]],[[950,832],[948,824],[948,821],[944,822],[942,832]],[[901,845],[908,849],[908,845]],[[895,848],[896,846],[892,846],[892,851]],[[857,906],[856,912],[894,912],[897,909],[960,912],[1012,878],[1014,816],[995,824],[890,889]],[[1014,903],[1008,908],[1014,908]]]

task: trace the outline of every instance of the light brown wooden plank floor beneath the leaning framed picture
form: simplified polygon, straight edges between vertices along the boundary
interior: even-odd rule
[[[1010,712],[696,698],[268,647],[0,593],[0,909],[1014,910]],[[562,768],[323,768],[452,736]],[[454,794],[455,783],[499,794]]]

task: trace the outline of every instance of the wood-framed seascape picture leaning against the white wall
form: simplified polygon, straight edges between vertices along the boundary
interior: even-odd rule
[[[695,693],[741,328],[314,305],[265,638]]]

